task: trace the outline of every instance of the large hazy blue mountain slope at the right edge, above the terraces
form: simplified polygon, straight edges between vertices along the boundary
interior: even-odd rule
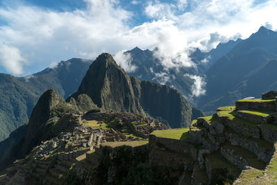
[[[259,97],[277,89],[277,33],[261,27],[240,41],[206,71],[206,95],[198,107],[205,112],[235,100]]]

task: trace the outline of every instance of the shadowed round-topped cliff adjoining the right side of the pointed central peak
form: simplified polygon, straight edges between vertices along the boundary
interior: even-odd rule
[[[140,87],[145,112],[165,119],[170,127],[189,127],[191,107],[179,91],[149,81],[141,81]]]

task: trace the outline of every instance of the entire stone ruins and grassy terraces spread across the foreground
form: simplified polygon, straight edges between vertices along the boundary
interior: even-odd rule
[[[179,129],[129,113],[65,116],[78,125],[16,160],[2,184],[277,183],[276,98],[238,100]]]

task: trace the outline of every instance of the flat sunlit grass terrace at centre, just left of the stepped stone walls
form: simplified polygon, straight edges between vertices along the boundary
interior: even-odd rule
[[[188,138],[189,130],[190,129],[188,127],[168,129],[168,130],[154,130],[151,134],[158,136],[158,137],[185,140]]]

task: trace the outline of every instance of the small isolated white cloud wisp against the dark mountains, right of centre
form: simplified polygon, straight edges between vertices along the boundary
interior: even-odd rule
[[[204,89],[206,86],[206,82],[204,78],[202,78],[201,76],[190,74],[185,74],[184,76],[194,80],[193,86],[191,87],[192,96],[198,97],[206,94],[206,90]]]

